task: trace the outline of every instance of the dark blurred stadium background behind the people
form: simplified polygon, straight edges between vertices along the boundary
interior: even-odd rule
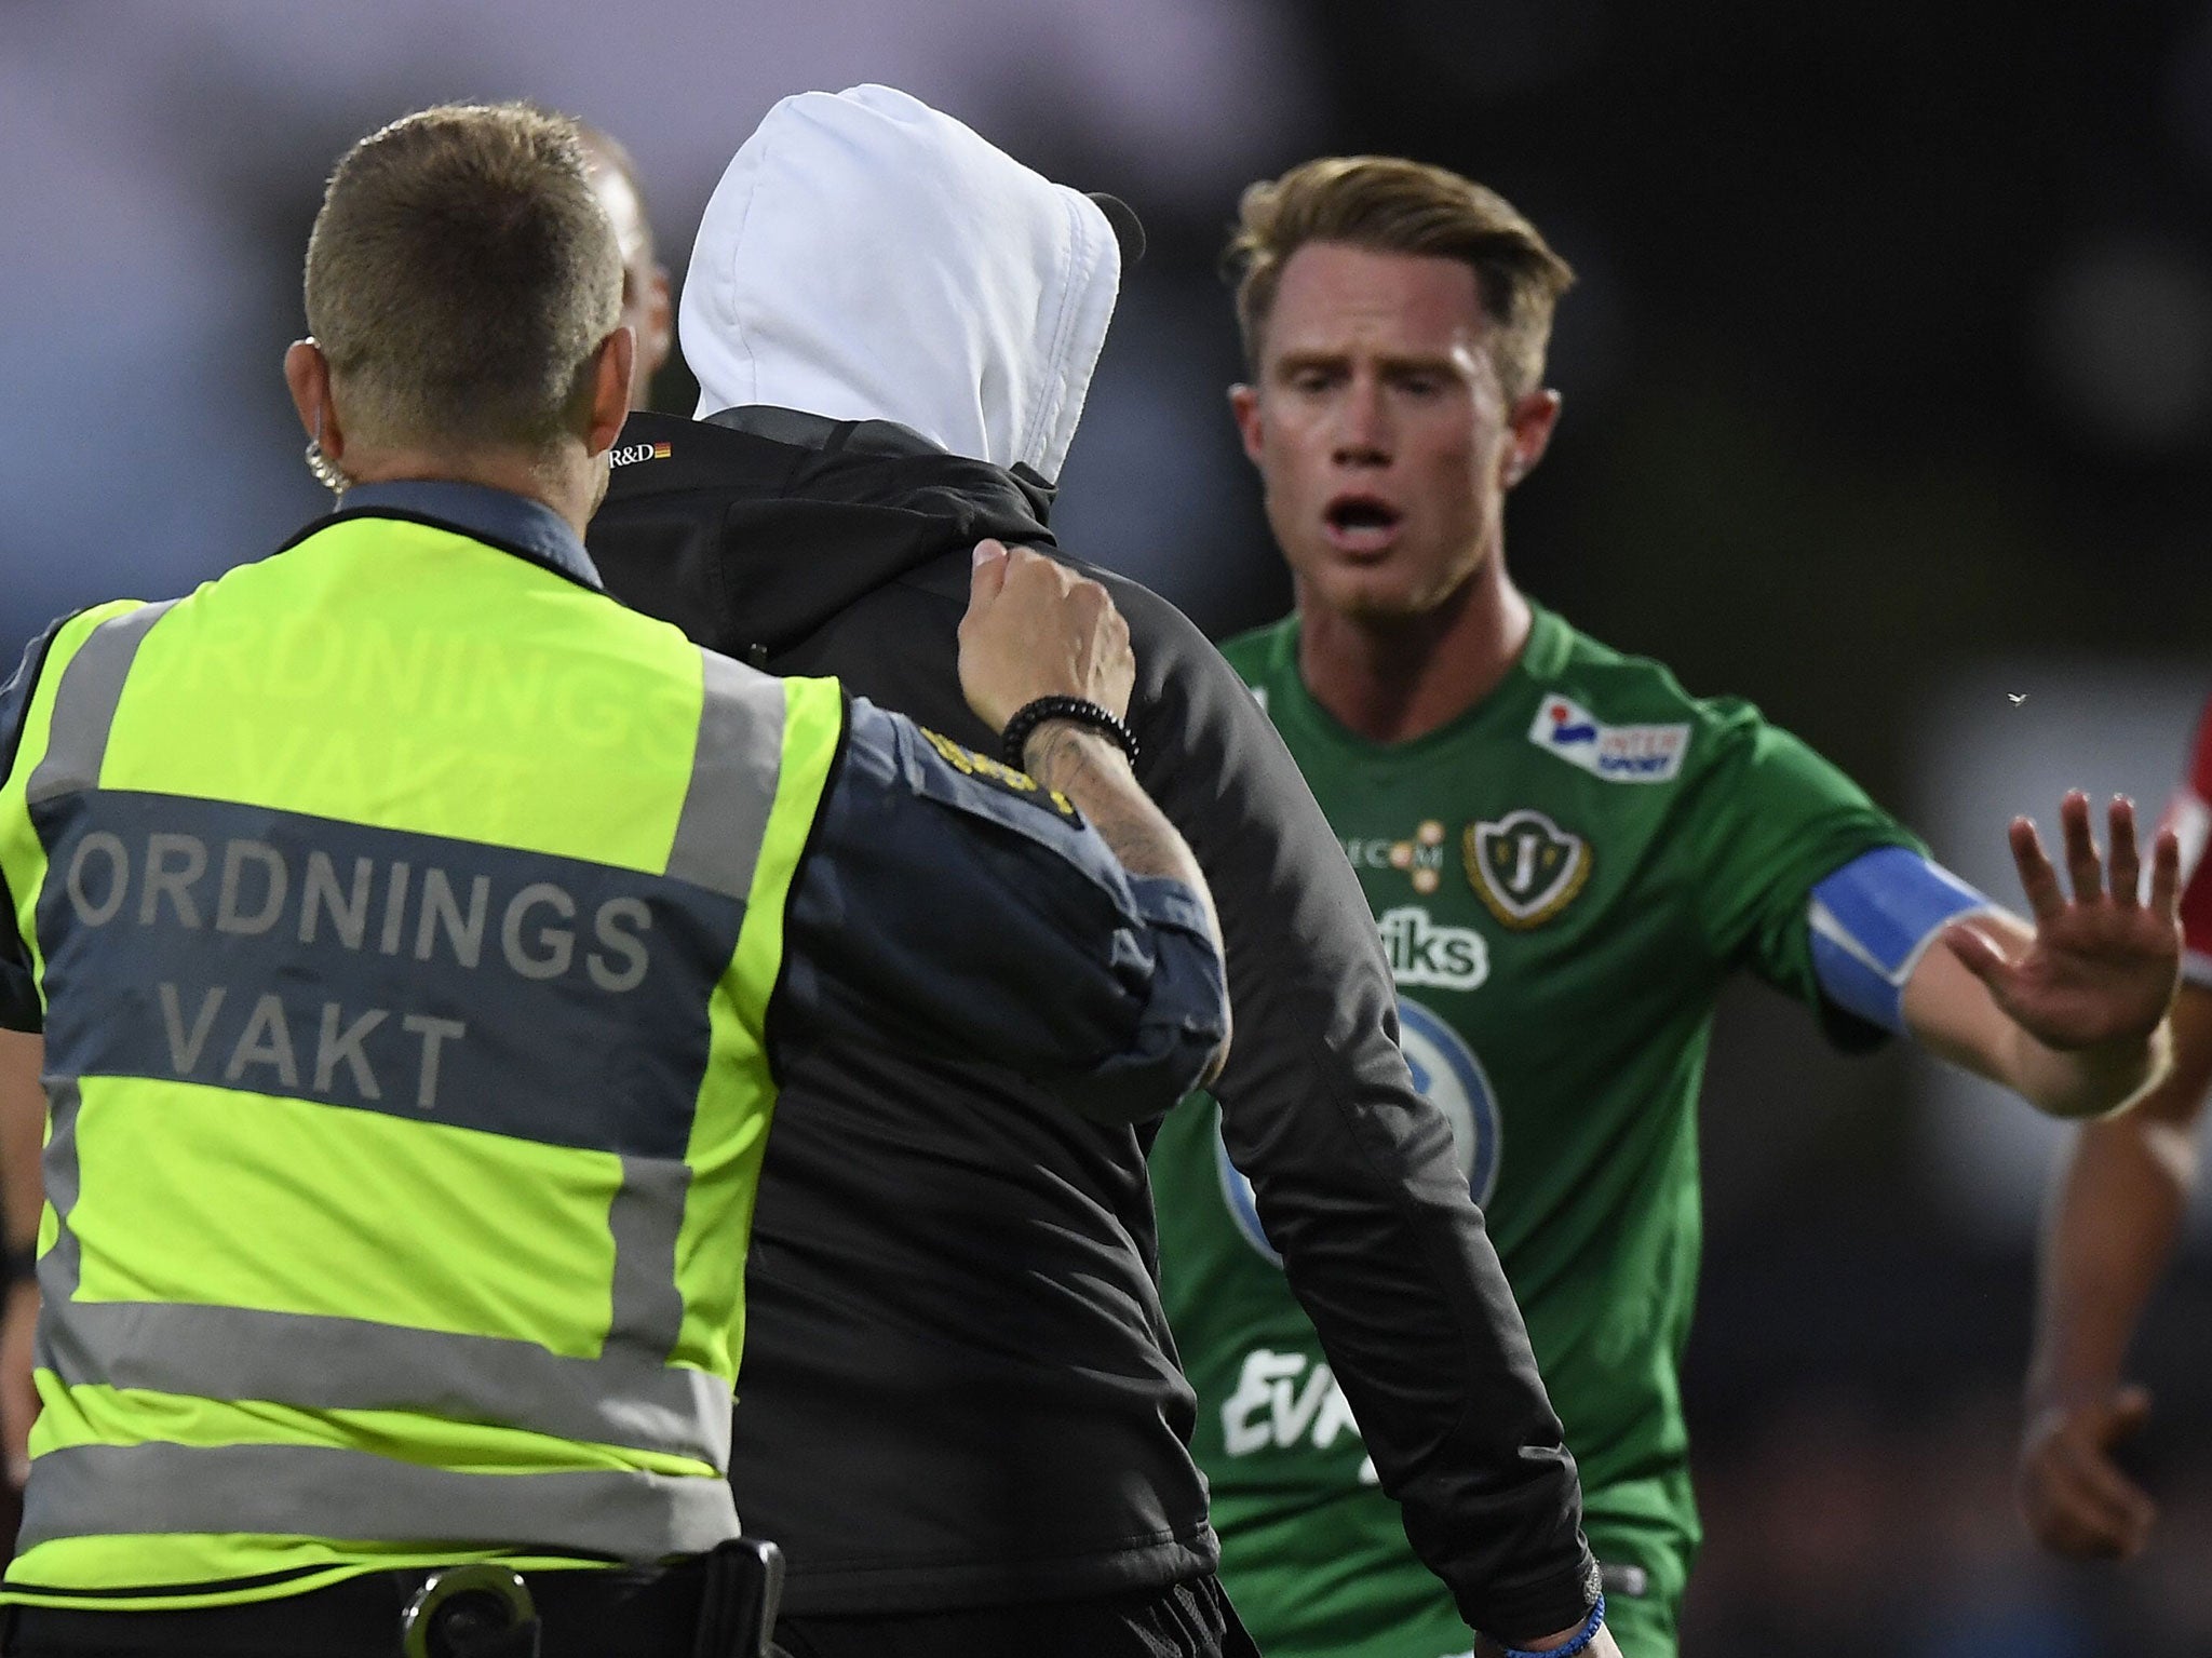
[[[356,135],[445,97],[584,115],[681,276],[768,106],[858,80],[1144,212],[1057,524],[1210,630],[1287,604],[1221,396],[1234,195],[1396,150],[1504,190],[1582,272],[1566,420],[1513,508],[1533,592],[1756,699],[2002,898],[2004,814],[2177,774],[2212,685],[2203,0],[0,0],[0,648],[319,508],[279,354]],[[2013,1519],[2037,1127],[1730,999],[1699,1658],[2212,1651],[2203,1227],[2137,1366],[2157,1547],[2066,1570]]]

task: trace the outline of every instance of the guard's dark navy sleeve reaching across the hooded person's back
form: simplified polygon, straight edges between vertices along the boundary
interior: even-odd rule
[[[783,957],[781,1021],[991,1059],[1097,1121],[1168,1110],[1228,1032],[1197,893],[1130,878],[1066,800],[867,701]]]

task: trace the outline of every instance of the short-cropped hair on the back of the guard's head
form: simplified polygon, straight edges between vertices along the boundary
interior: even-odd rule
[[[575,122],[442,104],[338,161],[307,239],[307,329],[380,442],[542,451],[588,420],[622,252]]]

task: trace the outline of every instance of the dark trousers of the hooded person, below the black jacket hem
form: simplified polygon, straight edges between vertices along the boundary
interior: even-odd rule
[[[1259,1658],[1212,1576],[1026,1607],[783,1618],[790,1658]]]

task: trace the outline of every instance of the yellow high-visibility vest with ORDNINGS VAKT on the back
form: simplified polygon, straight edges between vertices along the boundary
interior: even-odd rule
[[[763,1017],[841,725],[403,517],[60,628],[0,785],[51,1105],[4,1598],[737,1534]]]

